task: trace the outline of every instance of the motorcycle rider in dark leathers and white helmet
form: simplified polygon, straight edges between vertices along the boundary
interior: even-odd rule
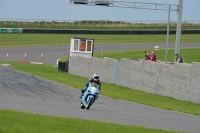
[[[85,87],[81,90],[82,95],[87,90],[87,88],[89,86],[89,83],[96,83],[96,84],[98,84],[99,85],[99,92],[100,92],[100,90],[101,90],[101,81],[99,80],[99,74],[95,73],[93,75],[93,77],[91,79],[89,79],[89,81],[85,84]],[[81,95],[81,97],[82,97],[82,95]]]

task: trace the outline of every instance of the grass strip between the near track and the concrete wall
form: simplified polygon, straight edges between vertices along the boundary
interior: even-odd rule
[[[8,62],[1,61],[0,63]],[[68,73],[58,72],[57,67],[51,65],[33,65],[12,62],[10,62],[10,64],[12,64],[11,67],[15,69],[63,83],[78,89],[82,89],[84,84],[88,81],[88,78],[82,78],[70,75]],[[174,98],[146,93],[139,90],[131,90],[129,88],[114,84],[103,82],[101,94],[115,99],[122,99],[167,110],[175,110],[179,112],[200,115],[200,104],[176,100]]]

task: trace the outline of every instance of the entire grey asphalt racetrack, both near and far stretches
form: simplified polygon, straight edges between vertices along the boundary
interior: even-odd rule
[[[153,49],[154,46],[152,44],[95,45],[95,52],[101,49],[103,52]],[[184,44],[183,46],[200,47],[200,44]],[[174,44],[169,47],[174,48]],[[165,48],[165,45],[160,45],[160,48]],[[9,59],[5,58],[7,53]],[[27,59],[23,58],[25,53]],[[43,59],[40,58],[42,53],[44,54]],[[58,58],[66,55],[69,55],[69,45],[0,48],[0,60],[26,60],[55,64]],[[80,90],[75,88],[0,66],[0,108],[175,131],[194,133],[200,131],[199,116],[166,111],[104,96],[100,96],[91,110],[87,111],[80,109],[79,96]]]

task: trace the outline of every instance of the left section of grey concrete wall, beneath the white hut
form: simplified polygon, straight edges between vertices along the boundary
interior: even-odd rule
[[[69,73],[81,77],[92,78],[99,73],[101,80],[107,83],[116,83],[117,60],[85,58],[70,56]]]

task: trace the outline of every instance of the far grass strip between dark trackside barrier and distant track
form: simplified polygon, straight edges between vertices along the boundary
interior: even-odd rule
[[[95,44],[165,44],[166,35],[0,34],[0,47],[67,45],[73,36],[94,38]],[[175,43],[170,35],[169,43]],[[200,43],[200,34],[182,35],[181,43]]]

